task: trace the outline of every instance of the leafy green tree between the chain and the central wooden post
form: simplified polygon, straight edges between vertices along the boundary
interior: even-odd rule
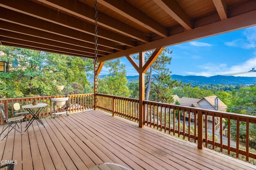
[[[120,63],[120,60],[109,61],[105,63],[110,75],[98,80],[98,92],[129,97],[130,91],[127,87],[128,80],[126,79],[125,65]]]

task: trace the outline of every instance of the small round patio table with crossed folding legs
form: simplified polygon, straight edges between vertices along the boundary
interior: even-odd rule
[[[41,125],[44,124],[42,123],[42,121],[38,118],[39,113],[42,111],[42,109],[44,107],[48,106],[48,104],[46,103],[38,103],[37,105],[24,105],[22,106],[22,109],[27,109],[28,112],[33,116],[32,119],[28,122],[28,124],[26,125],[26,130],[28,129],[28,127],[33,123],[34,120],[37,120],[39,123],[41,123]],[[34,113],[34,109],[36,109],[36,113]],[[26,131],[25,130],[25,131]]]

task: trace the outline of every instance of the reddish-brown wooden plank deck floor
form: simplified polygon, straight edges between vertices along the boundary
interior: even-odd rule
[[[130,169],[256,169],[256,166],[177,139],[152,128],[85,111],[36,121],[24,132],[0,141],[2,160],[16,161],[15,170],[86,170],[103,162]],[[2,130],[3,126],[0,127]],[[1,139],[3,136],[0,136]]]

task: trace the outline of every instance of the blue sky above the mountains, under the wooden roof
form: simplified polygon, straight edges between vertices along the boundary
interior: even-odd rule
[[[168,47],[172,74],[214,76],[249,71],[256,66],[256,26]],[[127,75],[138,75],[123,57]],[[108,74],[106,67],[101,75]],[[234,76],[256,77],[256,72]]]

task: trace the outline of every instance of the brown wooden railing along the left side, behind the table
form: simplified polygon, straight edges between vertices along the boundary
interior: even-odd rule
[[[55,96],[56,97],[56,96]],[[94,108],[94,94],[82,94],[82,95],[68,95],[69,97],[69,108],[68,113],[74,113],[78,111],[84,111],[85,109],[93,109]],[[46,97],[25,97],[25,98],[16,98],[16,99],[0,99],[0,103],[4,105],[4,109],[6,111],[6,117],[12,117],[14,113],[13,104],[18,101],[20,106],[32,104],[34,99],[38,101],[38,103],[47,103],[48,106],[45,107],[42,112],[39,114],[39,117],[48,117],[52,114],[52,102],[51,99],[53,96]],[[7,114],[8,111],[8,114]],[[59,112],[59,111],[58,111]],[[4,120],[2,115],[0,115],[0,124],[4,124]],[[32,118],[32,115],[27,115],[27,118]]]

